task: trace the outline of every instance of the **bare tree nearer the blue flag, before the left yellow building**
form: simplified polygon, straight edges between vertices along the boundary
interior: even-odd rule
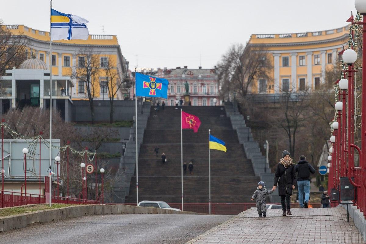
[[[113,102],[120,91],[120,89],[126,85],[131,83],[131,80],[127,77],[123,78],[121,75],[121,71],[116,67],[115,62],[111,59],[107,60],[107,63],[104,64],[104,72],[105,72],[105,85],[108,90],[108,97],[110,102],[110,123],[113,123]]]

